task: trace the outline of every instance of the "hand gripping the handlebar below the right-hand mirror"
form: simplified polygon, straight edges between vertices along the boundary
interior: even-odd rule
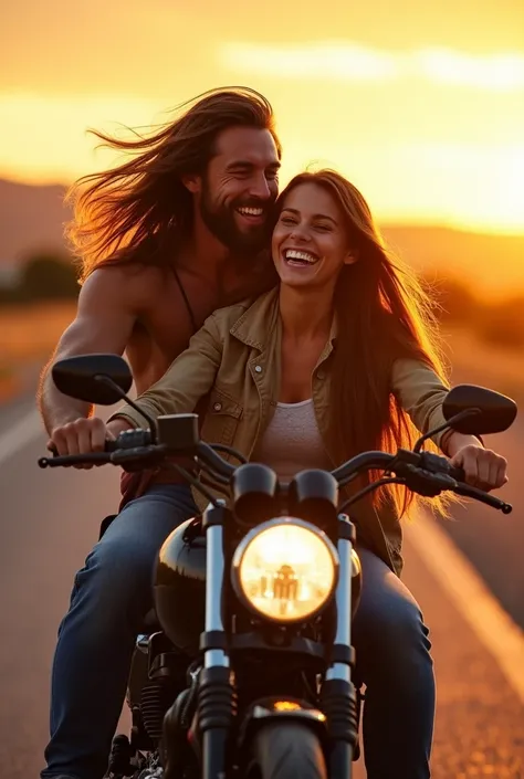
[[[491,449],[484,449],[479,439],[453,432],[447,449],[451,464],[464,470],[465,482],[472,487],[491,492],[507,482],[507,461]]]

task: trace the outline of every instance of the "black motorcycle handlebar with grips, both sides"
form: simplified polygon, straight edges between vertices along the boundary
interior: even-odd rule
[[[232,450],[231,450],[232,451]],[[40,467],[60,467],[69,465],[93,464],[113,465],[133,464],[147,467],[150,463],[159,463],[169,456],[193,456],[200,466],[206,467],[210,475],[216,475],[222,483],[229,482],[238,470],[224,460],[212,445],[203,441],[191,446],[191,451],[174,451],[166,444],[153,444],[148,430],[128,430],[120,433],[116,440],[106,441],[104,452],[73,454],[64,456],[41,457]],[[242,460],[242,457],[239,457]],[[408,488],[419,494],[438,495],[442,491],[452,491],[458,495],[471,497],[510,514],[512,506],[489,493],[464,483],[463,469],[450,465],[447,457],[429,452],[412,452],[399,450],[397,454],[387,452],[364,452],[343,463],[332,471],[332,475],[340,486],[347,484],[364,471],[378,470],[395,473]],[[377,482],[379,486],[379,482]]]

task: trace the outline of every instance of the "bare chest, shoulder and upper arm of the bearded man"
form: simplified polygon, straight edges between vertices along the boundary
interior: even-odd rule
[[[254,274],[240,282],[234,272],[218,283],[184,269],[127,264],[98,269],[82,287],[76,317],[50,364],[78,354],[126,352],[142,393],[164,376],[213,310],[259,294],[260,283]],[[43,373],[40,394],[49,433],[90,413],[87,403],[56,390],[49,371]]]

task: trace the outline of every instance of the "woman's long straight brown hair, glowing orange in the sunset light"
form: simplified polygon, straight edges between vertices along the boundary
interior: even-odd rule
[[[333,355],[331,438],[338,463],[368,450],[410,449],[419,433],[391,393],[397,358],[422,360],[449,386],[434,307],[415,273],[386,249],[370,209],[358,191],[333,170],[300,173],[280,194],[280,211],[290,190],[313,182],[337,202],[357,262],[337,280],[338,336]],[[431,443],[428,448],[433,448]],[[370,473],[358,488],[380,474]],[[353,492],[353,489],[352,489]],[[371,493],[374,502],[394,501],[404,514],[413,494],[398,486]],[[444,513],[447,499],[430,505]]]

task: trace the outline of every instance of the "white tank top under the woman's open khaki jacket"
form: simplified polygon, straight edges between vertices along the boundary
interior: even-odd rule
[[[305,469],[331,470],[333,465],[318,431],[313,399],[277,403],[251,460],[269,465],[284,482]]]

